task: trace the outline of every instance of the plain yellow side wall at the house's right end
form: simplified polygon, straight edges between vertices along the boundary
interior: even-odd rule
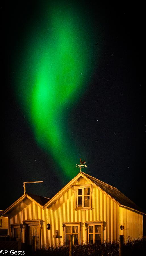
[[[121,230],[120,226],[124,226]],[[143,236],[143,216],[130,209],[119,207],[119,235],[124,235],[124,239],[141,238]]]

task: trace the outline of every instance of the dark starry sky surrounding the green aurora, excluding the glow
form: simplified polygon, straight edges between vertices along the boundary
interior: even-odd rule
[[[24,181],[43,180],[44,183],[26,185],[26,191],[47,197],[53,197],[66,185],[54,172],[55,161],[37,146],[13,90],[13,59],[20,50],[24,30],[43,3],[8,1],[2,7],[4,127],[0,210],[23,194]],[[124,2],[82,4],[93,18],[100,48],[88,90],[74,106],[69,120],[90,155],[88,169],[83,171],[117,187],[146,211],[144,7]],[[79,120],[83,120],[81,124]]]

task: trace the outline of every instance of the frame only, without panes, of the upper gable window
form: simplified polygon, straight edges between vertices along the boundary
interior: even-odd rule
[[[85,195],[84,194],[84,188],[90,189],[90,194]],[[82,206],[78,206],[78,189],[82,189]],[[74,185],[75,190],[75,210],[83,210],[83,209],[91,209],[92,208],[92,185],[86,184],[86,185]],[[80,196],[80,195],[79,195]],[[89,196],[89,206],[84,207],[84,196]]]

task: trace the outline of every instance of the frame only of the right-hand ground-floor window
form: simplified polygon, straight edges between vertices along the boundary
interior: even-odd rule
[[[93,226],[93,233],[89,233],[89,226]],[[101,232],[95,232],[95,226],[101,226]],[[101,243],[103,242],[103,221],[85,222],[86,241],[89,243],[89,234],[93,234],[93,243],[95,243],[95,234],[101,234]]]

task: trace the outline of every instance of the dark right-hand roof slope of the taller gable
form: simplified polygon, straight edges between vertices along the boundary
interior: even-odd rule
[[[113,199],[119,202],[121,205],[132,208],[139,212],[143,212],[141,208],[139,208],[134,202],[132,202],[128,197],[126,197],[123,193],[121,193],[116,187],[112,187],[99,179],[96,179],[89,174],[82,172],[85,177],[91,180],[95,185],[105,191],[108,195],[110,195]]]

